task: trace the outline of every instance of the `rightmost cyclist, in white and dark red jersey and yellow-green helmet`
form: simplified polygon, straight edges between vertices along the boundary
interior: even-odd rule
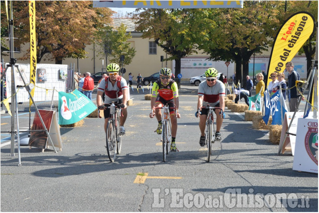
[[[208,68],[205,72],[206,81],[203,81],[198,86],[198,101],[197,101],[197,111],[202,106],[220,107],[223,109],[223,118],[225,118],[225,85],[223,82],[217,79],[218,71],[215,68]],[[217,115],[216,119],[216,140],[221,140],[222,136],[220,133],[223,118],[221,115],[221,110],[214,110]],[[201,109],[199,116],[199,129],[200,129],[200,146],[205,145],[205,123],[207,118],[207,109]]]

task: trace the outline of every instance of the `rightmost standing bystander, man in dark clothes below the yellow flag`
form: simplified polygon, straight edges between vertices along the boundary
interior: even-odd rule
[[[296,81],[300,80],[298,73],[293,69],[293,63],[287,62],[286,63],[286,70],[288,74],[288,102],[289,102],[289,109],[290,112],[298,111],[298,102],[299,102],[299,94],[296,88]],[[304,98],[302,97],[302,100]]]

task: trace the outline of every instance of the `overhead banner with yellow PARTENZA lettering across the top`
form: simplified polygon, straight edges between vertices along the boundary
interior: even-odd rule
[[[243,8],[244,1],[93,1],[93,8]]]

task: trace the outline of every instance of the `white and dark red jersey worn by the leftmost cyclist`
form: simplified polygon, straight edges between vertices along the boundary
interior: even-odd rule
[[[97,91],[102,91],[105,93],[104,104],[109,104],[112,101],[118,101],[119,99],[122,99],[122,90],[128,89],[128,84],[126,83],[126,80],[124,78],[121,78],[121,88],[118,87],[118,79],[115,82],[114,86],[112,85],[110,78],[107,79],[109,81],[107,89],[105,88],[105,78],[101,80],[97,88]],[[121,93],[119,93],[119,91],[121,91]]]

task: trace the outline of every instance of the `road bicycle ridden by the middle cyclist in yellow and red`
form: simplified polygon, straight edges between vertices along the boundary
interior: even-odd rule
[[[167,104],[165,106],[161,107],[155,107],[155,109],[163,109],[162,113],[162,135],[161,135],[161,141],[162,141],[162,147],[163,147],[163,162],[166,161],[166,155],[168,152],[170,152],[171,147],[171,140],[172,140],[172,131],[171,131],[171,121],[170,121],[170,114],[169,109],[174,107],[169,107]],[[154,110],[152,110],[152,116],[154,116]],[[176,110],[176,116],[177,116],[177,110]]]

